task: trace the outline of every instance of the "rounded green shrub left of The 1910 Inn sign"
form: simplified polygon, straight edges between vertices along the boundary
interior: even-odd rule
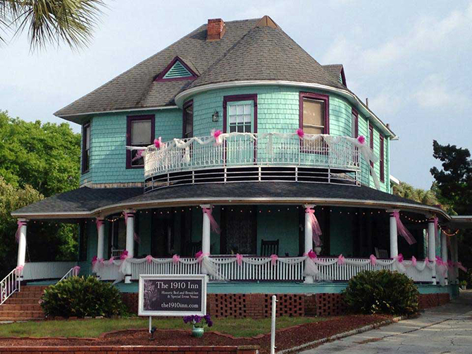
[[[126,313],[120,291],[95,277],[70,277],[48,286],[39,303],[46,316],[111,317]]]

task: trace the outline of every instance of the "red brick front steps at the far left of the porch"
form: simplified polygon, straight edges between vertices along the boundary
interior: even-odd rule
[[[1,321],[42,320],[44,312],[39,299],[47,286],[26,285],[0,305]]]

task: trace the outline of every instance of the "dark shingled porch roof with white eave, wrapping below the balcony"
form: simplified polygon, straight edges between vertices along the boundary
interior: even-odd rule
[[[80,188],[15,210],[30,219],[97,217],[125,208],[162,208],[200,204],[316,204],[357,208],[400,209],[450,220],[440,208],[368,187],[294,182],[240,182],[166,187],[143,194],[141,188]]]

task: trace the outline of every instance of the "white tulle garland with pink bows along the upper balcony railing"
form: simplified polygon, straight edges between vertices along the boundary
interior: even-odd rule
[[[160,138],[156,139],[154,144],[149,145],[149,146],[126,146],[129,150],[139,150],[142,151],[141,155],[142,157],[146,156],[148,153],[156,151],[156,148],[159,148],[159,151],[161,153],[165,153],[168,151],[170,148],[173,148],[174,146],[177,148],[185,149],[185,154],[182,157],[182,160],[186,163],[190,162],[190,145],[192,145],[194,142],[197,142],[200,145],[208,145],[208,144],[215,144],[215,145],[220,145],[223,144],[225,139],[228,139],[228,137],[251,137],[254,141],[257,141],[258,139],[265,139],[268,138],[268,151],[269,153],[272,153],[273,151],[273,137],[282,137],[282,138],[290,138],[290,137],[299,137],[300,140],[304,141],[318,141],[322,140],[325,141],[328,146],[335,146],[336,144],[339,144],[340,141],[343,139],[346,141],[351,142],[356,148],[359,149],[359,152],[361,155],[364,157],[364,160],[366,160],[369,170],[371,172],[373,182],[375,184],[375,188],[380,189],[380,182],[378,180],[378,176],[375,173],[374,168],[371,165],[372,163],[377,163],[378,162],[378,157],[375,156],[373,153],[373,150],[366,144],[365,138],[360,136],[358,138],[352,138],[352,137],[336,137],[333,135],[329,134],[304,134],[302,129],[298,129],[297,132],[295,133],[277,133],[277,132],[270,132],[270,133],[263,133],[263,134],[257,134],[257,133],[251,133],[251,132],[246,132],[246,133],[240,133],[240,132],[231,132],[231,133],[221,133],[221,131],[212,131],[211,132],[211,137],[192,137],[188,139],[178,139],[174,138],[171,141],[168,141],[166,143],[162,143]],[[334,152],[336,154],[336,152]]]

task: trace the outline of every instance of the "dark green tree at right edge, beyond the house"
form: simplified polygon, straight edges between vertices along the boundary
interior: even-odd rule
[[[472,159],[467,148],[441,145],[433,141],[433,156],[442,162],[442,169],[430,169],[440,198],[450,203],[459,215],[472,215]],[[459,260],[472,267],[472,230],[462,230],[457,238]],[[463,272],[459,272],[464,277]]]

